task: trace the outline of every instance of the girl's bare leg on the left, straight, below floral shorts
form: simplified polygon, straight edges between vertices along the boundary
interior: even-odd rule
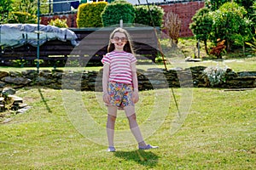
[[[108,134],[108,146],[114,146],[113,144],[113,134],[114,134],[114,124],[117,115],[116,106],[108,106],[108,122],[107,122],[107,134]]]

